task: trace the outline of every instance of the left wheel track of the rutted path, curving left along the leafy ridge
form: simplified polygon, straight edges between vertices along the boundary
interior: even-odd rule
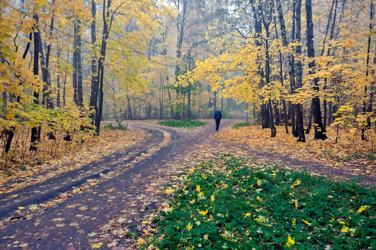
[[[133,126],[143,129],[148,135],[144,140],[130,148],[120,149],[99,160],[90,162],[80,168],[63,172],[45,181],[27,185],[11,193],[0,195],[0,220],[17,210],[19,206],[26,207],[31,204],[41,203],[77,187],[88,179],[100,178],[101,175],[116,170],[119,166],[129,164],[141,154],[155,146],[164,139],[163,132],[157,129],[148,129],[142,126]]]

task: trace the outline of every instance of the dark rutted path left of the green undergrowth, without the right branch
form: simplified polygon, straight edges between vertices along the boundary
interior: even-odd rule
[[[221,125],[230,123],[233,122],[224,120]],[[13,246],[43,250],[90,249],[99,242],[92,236],[97,235],[109,222],[113,221],[110,225],[117,227],[124,221],[132,222],[140,211],[153,209],[153,200],[144,205],[144,199],[147,199],[145,188],[158,182],[165,172],[170,172],[169,165],[176,163],[173,159],[181,159],[186,149],[203,142],[215,132],[212,126],[193,131],[147,124],[131,125],[130,128],[145,130],[150,136],[131,150],[119,150],[80,169],[1,195],[0,219],[5,219],[0,224],[0,249]],[[156,148],[158,145],[162,147]],[[134,157],[142,155],[146,157],[139,160]],[[47,209],[32,216],[16,216],[15,211],[20,206],[27,209],[28,205],[46,203],[87,179],[100,178],[117,168],[120,171],[110,178],[74,193]],[[13,221],[9,221],[9,217]],[[108,247],[103,245],[103,248]]]

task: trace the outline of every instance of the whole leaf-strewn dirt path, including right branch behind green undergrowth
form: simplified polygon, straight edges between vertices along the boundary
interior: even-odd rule
[[[165,185],[221,153],[305,168],[333,179],[362,177],[362,184],[375,184],[372,167],[344,171],[342,166],[300,157],[300,151],[277,152],[260,143],[233,140],[230,126],[239,120],[222,120],[219,133],[214,120],[207,121],[208,125],[195,129],[161,127],[156,120],[127,122],[123,125],[128,125],[130,134],[138,131],[132,145],[125,143],[132,139],[124,139],[124,146],[112,154],[92,161],[83,158],[80,167],[47,174],[29,185],[19,179],[22,185],[0,194],[0,249],[134,248],[138,235],[153,233],[146,218],[164,207]]]

